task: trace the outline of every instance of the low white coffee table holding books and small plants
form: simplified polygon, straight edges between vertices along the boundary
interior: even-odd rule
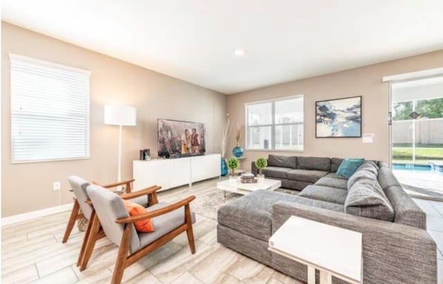
[[[278,181],[275,179],[264,179],[262,182],[257,182],[256,184],[242,184],[239,179],[235,181],[231,181],[226,179],[224,181],[217,182],[217,189],[229,191],[231,193],[238,194],[248,194],[255,190],[264,189],[264,190],[275,190],[282,186],[282,181]]]

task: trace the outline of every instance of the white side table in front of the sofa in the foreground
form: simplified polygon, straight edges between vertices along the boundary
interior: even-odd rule
[[[291,216],[271,238],[269,250],[307,265],[308,284],[331,284],[332,276],[363,283],[361,233]]]

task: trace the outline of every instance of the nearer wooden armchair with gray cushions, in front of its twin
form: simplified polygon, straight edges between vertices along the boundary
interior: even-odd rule
[[[152,196],[152,202],[156,203],[156,190],[148,189],[147,191]],[[118,196],[96,185],[88,186],[87,193],[91,197],[94,208],[93,214],[98,216],[106,236],[119,246],[112,283],[121,282],[126,267],[165,245],[184,231],[188,235],[190,250],[192,254],[195,254],[194,233],[192,232],[195,214],[190,211],[190,202],[195,199],[195,196],[192,195],[173,204],[156,203],[147,208],[147,213],[130,217],[122,198],[136,193]],[[147,218],[152,219],[156,231],[138,233],[134,227],[134,222]],[[96,223],[92,226],[90,233],[94,234],[98,231],[99,225]],[[82,265],[87,265],[89,256],[87,250]]]

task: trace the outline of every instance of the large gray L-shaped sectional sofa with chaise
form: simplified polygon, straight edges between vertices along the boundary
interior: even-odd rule
[[[345,179],[335,174],[340,163],[334,158],[270,155],[265,175],[280,179],[282,187],[302,191],[291,195],[257,190],[221,207],[218,242],[306,282],[305,265],[267,249],[271,235],[296,215],[363,234],[363,283],[437,283],[437,249],[426,232],[426,214],[388,165],[367,162]],[[345,282],[333,278],[333,283]]]

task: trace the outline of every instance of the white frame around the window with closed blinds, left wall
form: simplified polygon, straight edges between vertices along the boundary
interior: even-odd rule
[[[91,71],[89,70],[85,70],[85,69],[79,69],[79,68],[75,68],[72,66],[66,66],[63,64],[57,64],[54,62],[49,62],[46,60],[39,60],[37,58],[33,58],[33,57],[28,57],[28,56],[24,56],[24,55],[17,55],[15,53],[9,53],[9,71],[11,74],[11,70],[12,70],[12,60],[21,60],[21,61],[27,61],[27,62],[31,62],[33,64],[40,64],[42,66],[49,66],[49,67],[53,67],[53,68],[58,68],[58,69],[64,69],[66,71],[71,71],[71,72],[78,72],[78,73],[84,73],[85,75],[88,76],[88,84],[87,84],[87,94],[86,94],[86,98],[85,98],[85,103],[86,103],[86,119],[87,119],[87,123],[85,125],[87,125],[87,130],[86,131],[86,135],[87,135],[87,154],[84,157],[65,157],[65,158],[59,158],[59,159],[30,159],[30,160],[20,160],[20,161],[15,161],[14,159],[14,134],[12,133],[13,130],[13,125],[12,125],[12,76],[10,76],[9,78],[9,82],[10,82],[10,89],[9,89],[9,98],[10,98],[10,107],[9,107],[9,117],[10,117],[10,163],[12,164],[19,164],[19,163],[43,163],[43,162],[51,162],[51,161],[78,161],[78,160],[89,160],[91,159]]]

